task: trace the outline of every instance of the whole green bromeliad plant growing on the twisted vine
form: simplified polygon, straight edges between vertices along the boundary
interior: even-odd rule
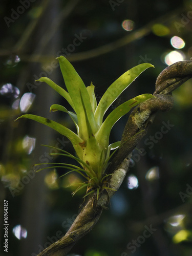
[[[110,151],[118,148],[120,145],[120,142],[109,145],[109,136],[113,125],[134,106],[153,96],[151,94],[142,94],[130,99],[119,105],[103,121],[104,114],[117,97],[129,87],[144,70],[153,67],[153,65],[150,63],[142,63],[126,71],[111,84],[97,105],[93,84],[91,83],[91,86],[86,87],[74,67],[65,57],[60,56],[57,59],[68,92],[47,77],[41,77],[38,81],[46,82],[69,102],[74,112],[68,111],[64,106],[58,104],[53,104],[50,107],[50,112],[63,111],[69,114],[75,123],[77,133],[45,117],[26,114],[17,119],[25,117],[35,120],[66,136],[71,141],[77,157],[58,148],[57,150],[61,153],[55,153],[55,155],[63,155],[75,159],[81,167],[67,163],[60,163],[59,167],[67,168],[70,170],[69,172],[76,171],[81,174],[86,178],[87,182],[79,184],[77,190],[87,186],[87,195],[96,191],[98,198],[102,189],[109,188],[106,182],[108,175],[105,174],[105,170],[112,156],[110,156]]]

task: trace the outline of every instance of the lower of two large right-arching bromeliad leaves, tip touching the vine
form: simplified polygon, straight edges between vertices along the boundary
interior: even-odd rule
[[[102,123],[101,127],[95,135],[100,145],[108,145],[111,129],[113,125],[119,120],[119,118],[128,113],[133,108],[133,106],[136,106],[139,103],[152,97],[154,97],[152,94],[142,94],[133,99],[127,100],[123,104],[119,105],[115,110],[113,110],[108,115],[108,117],[106,117],[106,119],[104,120],[104,122]]]

